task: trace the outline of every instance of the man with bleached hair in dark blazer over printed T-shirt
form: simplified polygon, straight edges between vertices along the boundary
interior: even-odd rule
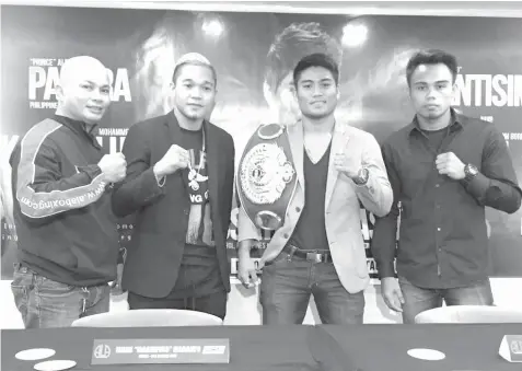
[[[128,131],[128,173],[113,208],[121,217],[136,212],[121,281],[131,310],[188,309],[224,318],[234,143],[205,119],[216,85],[205,57],[182,57],[173,73],[174,109]]]

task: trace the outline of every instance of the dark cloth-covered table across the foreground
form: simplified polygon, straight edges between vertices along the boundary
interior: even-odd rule
[[[503,335],[522,335],[522,324],[484,325],[322,325],[346,357],[363,371],[521,371],[498,356]],[[321,370],[306,336],[313,326],[219,326],[155,328],[48,328],[1,332],[1,370],[33,370],[37,361],[14,355],[28,348],[53,348],[51,359],[71,359],[71,370]],[[91,366],[95,338],[229,338],[229,364],[118,364]],[[409,357],[410,348],[432,348],[445,353],[440,361]],[[323,366],[324,369],[324,366]],[[336,370],[337,371],[337,370]],[[343,370],[339,370],[343,371]]]

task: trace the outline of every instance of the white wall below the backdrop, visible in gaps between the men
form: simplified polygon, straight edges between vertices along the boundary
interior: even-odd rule
[[[10,283],[9,280],[0,281],[0,328],[23,328],[22,318],[14,306]],[[522,278],[492,278],[491,287],[495,303],[498,306],[522,310]],[[379,286],[369,287],[364,297],[367,300],[364,323],[401,323],[401,316],[393,314],[384,305]],[[111,302],[111,311],[126,310],[126,295],[114,297]],[[258,288],[246,290],[241,285],[232,285],[224,322],[227,325],[260,324]],[[311,303],[304,323],[320,323],[315,304]]]

